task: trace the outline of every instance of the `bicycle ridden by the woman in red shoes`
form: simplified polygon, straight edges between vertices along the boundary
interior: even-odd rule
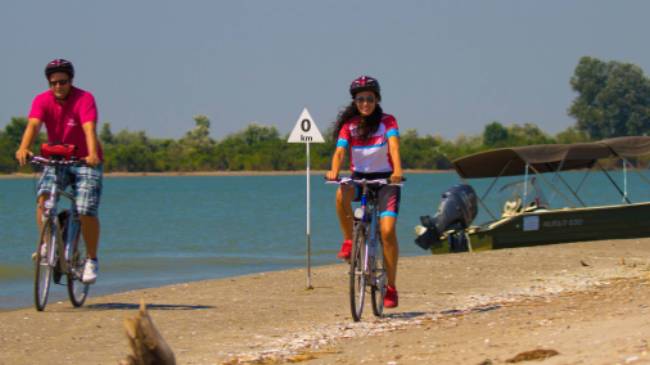
[[[386,295],[386,268],[384,250],[379,231],[378,191],[388,185],[386,179],[341,178],[328,181],[339,185],[354,184],[361,188],[360,206],[354,210],[352,252],[350,255],[350,309],[355,322],[361,320],[366,290],[370,289],[372,312],[381,317]],[[401,184],[396,184],[400,185]]]

